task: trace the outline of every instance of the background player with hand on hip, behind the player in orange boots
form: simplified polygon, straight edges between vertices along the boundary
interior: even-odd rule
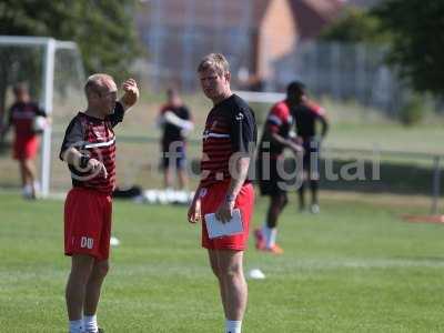
[[[301,82],[295,82],[295,84],[297,103],[292,111],[296,123],[297,141],[302,142],[304,148],[303,176],[301,186],[299,188],[299,204],[300,210],[305,211],[305,186],[309,182],[312,194],[310,211],[316,214],[320,212],[317,195],[320,144],[329,131],[329,121],[325,110],[309,100],[305,93],[305,85]],[[321,124],[320,135],[317,135],[317,123]]]

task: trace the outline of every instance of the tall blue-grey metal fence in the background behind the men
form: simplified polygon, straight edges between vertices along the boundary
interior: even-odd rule
[[[265,38],[262,41],[264,47],[258,48],[252,38],[254,32],[248,24],[221,28],[216,24],[219,16],[215,16],[214,27],[202,28],[199,20],[193,22],[192,14],[191,9],[184,13],[190,17],[184,28],[163,23],[161,16],[152,18],[151,26],[141,31],[149,53],[141,59],[137,70],[154,91],[171,84],[183,91],[195,91],[195,70],[200,59],[210,52],[222,52],[229,58],[233,85],[238,89],[283,91],[290,81],[299,79],[317,95],[340,101],[354,100],[392,117],[408,95],[394,69],[385,63],[385,46],[300,41],[276,59],[271,54],[272,50],[285,43],[284,40]],[[258,67],[258,57],[268,74],[262,79],[255,78],[260,81],[255,80],[249,87],[252,82],[249,79]]]

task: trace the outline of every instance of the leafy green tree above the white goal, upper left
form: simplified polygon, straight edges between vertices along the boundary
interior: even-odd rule
[[[88,73],[108,72],[121,80],[140,54],[134,29],[137,6],[135,0],[2,0],[0,34],[73,40]],[[0,115],[11,83],[12,60],[8,57],[0,59]]]

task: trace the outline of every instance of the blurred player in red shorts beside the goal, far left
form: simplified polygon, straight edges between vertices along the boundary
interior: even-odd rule
[[[31,100],[28,88],[20,83],[13,87],[14,102],[9,109],[9,118],[2,129],[4,135],[10,127],[14,129],[13,158],[19,161],[22,194],[26,199],[36,199],[37,170],[36,157],[40,147],[39,133],[43,130],[37,121],[46,118],[46,112]]]

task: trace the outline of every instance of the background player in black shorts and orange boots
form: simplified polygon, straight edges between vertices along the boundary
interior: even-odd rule
[[[258,148],[258,179],[262,195],[270,196],[270,206],[262,229],[254,231],[256,249],[275,254],[283,253],[276,244],[278,219],[287,203],[287,188],[283,178],[284,150],[295,157],[302,148],[291,135],[294,125],[292,108],[297,104],[297,87],[294,82],[286,88],[286,99],[274,104],[266,117],[263,134]]]

